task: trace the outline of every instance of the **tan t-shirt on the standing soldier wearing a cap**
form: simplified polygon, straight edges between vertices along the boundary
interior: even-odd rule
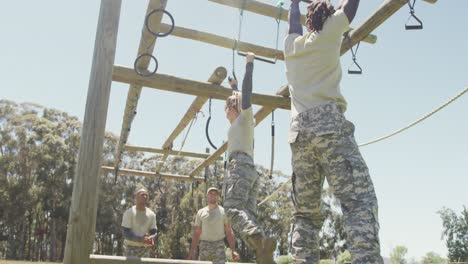
[[[195,216],[194,226],[199,226],[201,228],[201,240],[218,241],[224,239],[224,225],[228,223],[228,218],[222,206],[218,205],[218,207],[212,210],[206,206],[198,210]]]

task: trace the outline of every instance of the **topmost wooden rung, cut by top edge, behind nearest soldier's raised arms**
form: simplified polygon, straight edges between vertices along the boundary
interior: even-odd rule
[[[277,19],[279,17],[280,20],[288,21],[289,11],[288,9],[284,9],[280,11],[279,7],[272,6],[269,4],[265,4],[256,0],[209,0],[211,2],[215,2],[218,4],[240,8],[252,13],[268,16]],[[281,16],[280,16],[281,14]],[[305,15],[301,16],[301,24],[305,25],[306,17]],[[377,36],[368,34],[365,36],[362,41],[367,42],[369,44],[375,44],[377,42]]]

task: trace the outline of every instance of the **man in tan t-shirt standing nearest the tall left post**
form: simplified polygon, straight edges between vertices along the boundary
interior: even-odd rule
[[[146,207],[148,191],[142,185],[135,192],[135,205],[122,217],[124,250],[127,257],[149,258],[156,237],[156,214]]]

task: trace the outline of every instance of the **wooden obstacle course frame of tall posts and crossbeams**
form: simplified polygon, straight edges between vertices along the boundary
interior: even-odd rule
[[[215,0],[210,0],[215,1]],[[232,1],[232,0],[216,0]],[[253,2],[253,0],[245,0]],[[435,3],[436,0],[425,0]],[[133,69],[114,66],[115,49],[117,45],[118,23],[120,19],[121,0],[101,0],[99,13],[98,30],[96,33],[95,49],[92,63],[92,72],[89,82],[88,97],[85,109],[85,117],[81,132],[80,148],[78,153],[77,169],[73,181],[72,204],[70,207],[70,216],[68,220],[67,238],[64,254],[64,263],[198,263],[198,261],[185,260],[156,260],[139,259],[132,260],[125,257],[96,256],[90,255],[94,239],[97,215],[97,198],[99,190],[100,172],[114,172],[119,166],[122,151],[128,139],[130,126],[135,116],[138,105],[138,99],[141,95],[143,85],[158,85],[173,92],[187,93],[197,95],[192,106],[181,120],[179,125],[170,138],[164,144],[164,150],[170,149],[173,140],[188,124],[199,109],[206,102],[207,98],[213,97],[224,100],[230,95],[230,89],[220,86],[219,83],[203,83],[182,78],[157,74],[148,80],[135,77]],[[255,1],[256,2],[256,1]],[[407,0],[385,0],[383,4],[360,26],[349,32],[350,41],[344,41],[341,46],[341,55],[348,51],[353,45],[362,41],[370,33],[382,24],[386,19],[398,11]],[[165,9],[167,0],[150,0],[146,14],[154,9]],[[276,11],[275,11],[276,12]],[[277,13],[278,14],[278,13]],[[161,15],[151,16],[151,25],[154,31],[158,31],[161,25]],[[282,18],[284,20],[284,18]],[[208,33],[207,33],[208,34]],[[153,41],[154,40],[154,41]],[[147,43],[152,43],[147,46]],[[140,39],[140,45],[137,56],[143,52],[153,51],[156,39],[153,35],[143,30]],[[253,45],[253,44],[252,44]],[[275,51],[276,52],[276,51]],[[146,70],[149,65],[148,59],[142,59],[138,62],[137,68]],[[113,73],[111,73],[113,70]],[[131,73],[131,72],[133,73]],[[130,84],[125,104],[125,113],[122,122],[120,139],[117,146],[116,160],[114,167],[100,167],[102,148],[104,142],[105,123],[110,96],[110,84],[112,80],[125,80]],[[202,92],[190,90],[187,85],[196,85]],[[182,88],[181,88],[182,87]],[[211,94],[213,93],[213,94]],[[289,91],[287,86],[282,87],[276,96],[255,94],[253,103],[263,105],[255,114],[257,124],[268,116],[275,108],[289,109],[290,99],[287,98]],[[204,98],[204,99],[202,99]],[[198,99],[198,101],[197,101]],[[198,110],[195,110],[198,109]],[[141,175],[144,177],[177,179],[185,181],[202,181],[204,178],[196,175],[213,161],[215,161],[227,149],[227,143],[209,155],[190,175],[173,175],[167,173],[141,172],[135,170],[119,169],[123,174]],[[106,262],[107,261],[107,262]],[[136,262],[135,262],[136,261]],[[146,261],[146,262],[145,262]],[[165,262],[166,261],[166,262]],[[203,263],[203,262],[200,262]]]

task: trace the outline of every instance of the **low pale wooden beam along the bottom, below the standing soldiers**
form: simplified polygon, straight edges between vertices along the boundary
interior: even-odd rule
[[[114,264],[114,263],[156,263],[156,264],[212,264],[211,261],[200,260],[182,260],[182,259],[154,259],[154,258],[137,258],[137,257],[121,257],[121,256],[106,256],[106,255],[90,255],[91,264]],[[236,264],[246,264],[240,262],[226,262]]]

